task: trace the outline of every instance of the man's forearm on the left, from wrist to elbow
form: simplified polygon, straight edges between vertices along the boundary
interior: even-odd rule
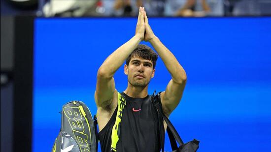
[[[134,36],[128,42],[120,46],[102,63],[99,72],[105,77],[113,77],[117,69],[135,50],[140,41],[141,39],[138,36]]]

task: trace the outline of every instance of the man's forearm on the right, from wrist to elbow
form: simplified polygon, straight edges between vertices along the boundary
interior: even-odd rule
[[[169,51],[169,49],[159,40],[158,37],[154,37],[149,41],[154,49],[157,51],[158,55],[165,63],[172,80],[176,83],[183,83],[186,80],[186,73],[174,55]]]

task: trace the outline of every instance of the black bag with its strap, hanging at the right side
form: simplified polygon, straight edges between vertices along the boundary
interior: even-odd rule
[[[193,141],[190,141],[188,143],[185,143],[185,144],[183,143],[181,137],[179,136],[174,126],[169,121],[168,117],[163,113],[160,93],[161,92],[159,92],[158,95],[155,95],[155,91],[154,91],[151,97],[151,101],[154,104],[154,106],[157,108],[158,113],[163,117],[164,121],[168,124],[167,132],[169,135],[169,141],[170,141],[172,152],[197,152],[197,150],[199,149],[200,141],[194,139]],[[161,141],[164,141],[164,140],[161,139]],[[176,141],[180,145],[179,147],[177,147]],[[164,152],[164,143],[162,143],[161,146],[162,146],[162,152]]]

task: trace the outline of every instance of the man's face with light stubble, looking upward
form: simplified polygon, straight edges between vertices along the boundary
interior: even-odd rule
[[[155,69],[152,67],[152,61],[135,57],[131,59],[129,66],[125,64],[124,73],[128,75],[128,82],[131,85],[145,87],[154,77]]]

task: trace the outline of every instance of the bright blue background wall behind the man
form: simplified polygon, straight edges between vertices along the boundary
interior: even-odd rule
[[[170,116],[183,140],[199,139],[198,152],[271,151],[271,18],[149,23],[187,73],[183,98]],[[135,25],[136,18],[35,20],[34,152],[51,150],[64,103],[81,100],[96,113],[96,72],[135,34]],[[124,91],[123,66],[114,78],[116,89]],[[169,80],[159,58],[149,94],[164,91]]]

